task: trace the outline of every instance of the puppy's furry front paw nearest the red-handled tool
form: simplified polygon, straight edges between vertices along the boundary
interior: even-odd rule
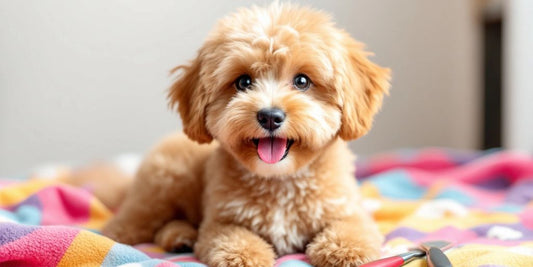
[[[353,267],[379,258],[380,244],[380,240],[341,239],[334,233],[325,232],[309,244],[306,254],[311,264],[317,267]]]

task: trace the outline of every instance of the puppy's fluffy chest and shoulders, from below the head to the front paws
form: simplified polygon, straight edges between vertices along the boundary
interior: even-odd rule
[[[333,157],[339,160],[329,160]],[[219,149],[207,165],[211,168],[206,172],[205,221],[249,229],[279,255],[304,252],[327,222],[360,209],[350,159],[339,141],[311,166],[283,179],[264,179]]]

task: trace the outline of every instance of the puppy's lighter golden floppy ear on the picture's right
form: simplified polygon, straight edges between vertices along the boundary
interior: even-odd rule
[[[339,136],[353,140],[365,135],[372,127],[374,115],[381,107],[383,96],[388,94],[390,70],[368,60],[371,53],[363,44],[345,37],[347,56],[341,71],[342,125]]]

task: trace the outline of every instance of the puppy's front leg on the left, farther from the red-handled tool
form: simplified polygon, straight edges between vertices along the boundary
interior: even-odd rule
[[[194,251],[213,267],[271,267],[276,257],[272,246],[248,229],[218,223],[200,227]]]

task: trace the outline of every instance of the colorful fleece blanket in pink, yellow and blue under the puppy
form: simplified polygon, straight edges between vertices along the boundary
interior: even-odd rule
[[[533,157],[428,149],[361,159],[364,206],[386,235],[383,255],[448,240],[454,266],[533,266]],[[98,234],[111,212],[56,180],[0,180],[0,265],[205,266],[192,254],[118,244]],[[276,266],[310,266],[303,254]],[[425,266],[423,259],[408,266]]]

